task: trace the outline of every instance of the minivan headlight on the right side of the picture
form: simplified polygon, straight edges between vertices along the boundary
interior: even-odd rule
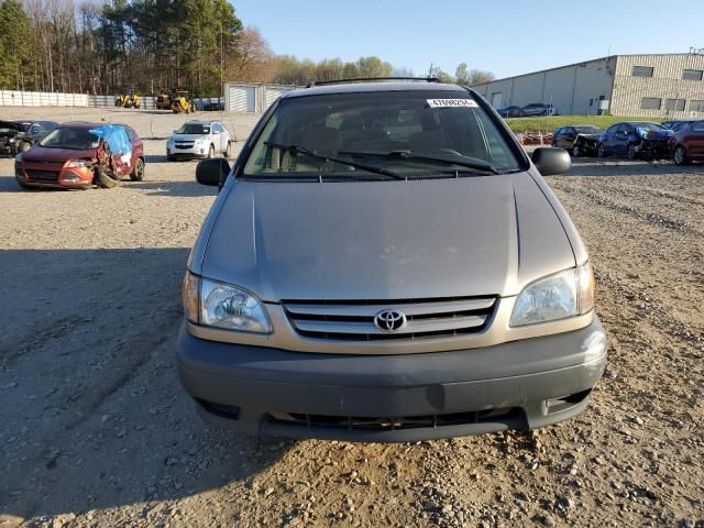
[[[509,326],[521,327],[587,314],[594,308],[594,273],[591,264],[556,273],[524,288]]]

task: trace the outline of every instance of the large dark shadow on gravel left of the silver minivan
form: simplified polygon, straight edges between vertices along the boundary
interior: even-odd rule
[[[284,457],[290,442],[206,426],[178,382],[188,252],[0,251],[26,274],[0,282],[0,514],[148,509]]]

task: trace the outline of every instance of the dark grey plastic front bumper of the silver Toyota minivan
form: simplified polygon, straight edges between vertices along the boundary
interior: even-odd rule
[[[407,355],[288,352],[182,328],[178,372],[199,414],[251,435],[367,442],[534,429],[578,415],[606,364],[596,317],[581,330]]]

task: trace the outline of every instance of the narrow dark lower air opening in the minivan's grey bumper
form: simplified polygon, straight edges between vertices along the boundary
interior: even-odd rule
[[[298,425],[308,428],[346,429],[364,431],[396,431],[404,429],[438,428],[472,424],[498,422],[516,425],[524,417],[517,407],[451,413],[428,416],[329,416],[297,413],[270,413],[267,419],[276,424]]]

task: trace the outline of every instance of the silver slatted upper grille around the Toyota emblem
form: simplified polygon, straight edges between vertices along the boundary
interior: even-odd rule
[[[495,304],[494,297],[283,301],[288,320],[299,336],[346,341],[410,340],[476,333],[488,324]],[[376,327],[374,317],[387,309],[404,314],[406,326],[394,331]]]

